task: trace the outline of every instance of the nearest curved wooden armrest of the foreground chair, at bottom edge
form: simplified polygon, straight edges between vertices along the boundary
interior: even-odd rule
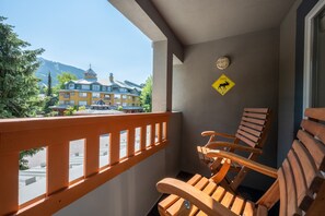
[[[156,183],[156,189],[161,193],[175,194],[189,201],[208,215],[235,215],[208,194],[177,179],[165,178]]]

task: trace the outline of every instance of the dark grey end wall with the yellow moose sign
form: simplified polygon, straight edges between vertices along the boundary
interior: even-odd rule
[[[224,71],[216,68],[220,56],[230,56],[231,65]],[[182,170],[210,175],[199,163],[197,145],[207,140],[206,130],[235,133],[243,108],[269,107],[272,127],[259,161],[277,166],[277,109],[279,31],[268,29],[234,36],[185,48],[185,61],[173,72],[173,110],[183,112]],[[211,84],[225,74],[235,86],[221,96]],[[270,179],[249,172],[244,184],[265,189]]]

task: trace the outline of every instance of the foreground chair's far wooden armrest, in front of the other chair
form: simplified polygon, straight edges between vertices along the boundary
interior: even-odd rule
[[[210,149],[210,151],[208,151],[207,156],[208,157],[228,158],[228,159],[239,163],[249,169],[253,169],[253,170],[264,173],[266,176],[272,177],[275,179],[278,177],[277,169],[262,165],[259,163],[253,161],[251,159],[247,159],[245,157],[239,156],[239,155],[230,153],[230,152]]]

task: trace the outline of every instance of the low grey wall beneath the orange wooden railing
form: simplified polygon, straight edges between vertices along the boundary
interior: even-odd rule
[[[172,113],[169,122],[169,146],[148,159],[102,184],[55,216],[139,216],[147,215],[161,194],[155,183],[165,176],[179,172],[181,113]]]

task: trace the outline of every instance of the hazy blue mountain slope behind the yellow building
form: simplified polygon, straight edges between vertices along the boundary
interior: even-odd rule
[[[36,77],[40,79],[40,83],[47,85],[47,75],[50,71],[51,75],[51,83],[53,86],[58,84],[58,74],[61,74],[62,72],[69,72],[74,74],[78,79],[83,77],[84,70],[78,69],[72,65],[67,65],[60,62],[49,61],[44,58],[38,58],[38,61],[40,62],[39,68],[37,69],[35,75]]]

